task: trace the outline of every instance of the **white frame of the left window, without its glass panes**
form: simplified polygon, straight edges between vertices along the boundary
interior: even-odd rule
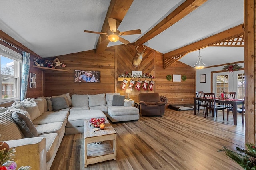
[[[6,99],[2,99],[2,97],[0,97],[0,103],[20,100],[22,55],[0,44],[0,56],[14,60],[14,76],[2,75],[0,72],[1,89],[2,89],[2,76],[16,79],[16,84],[14,84],[13,87],[10,86],[10,93],[14,93],[13,95],[15,95],[16,97],[10,97]],[[1,69],[1,60],[0,60],[0,69]]]

